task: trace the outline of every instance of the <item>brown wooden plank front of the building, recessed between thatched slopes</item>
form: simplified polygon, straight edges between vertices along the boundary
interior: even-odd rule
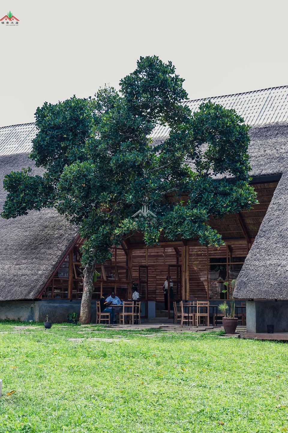
[[[131,297],[136,282],[142,303],[163,303],[163,284],[167,276],[173,281],[173,299],[221,300],[231,297],[231,287],[224,295],[225,282],[237,278],[258,233],[278,181],[255,183],[259,204],[249,212],[211,220],[212,227],[222,233],[225,246],[201,246],[197,240],[160,242],[147,248],[137,233],[111,251],[111,260],[96,265],[100,277],[94,283],[92,299],[115,291],[121,299]],[[39,299],[79,300],[82,297],[82,239],[73,246],[53,276],[39,293]],[[143,317],[147,317],[147,306]]]

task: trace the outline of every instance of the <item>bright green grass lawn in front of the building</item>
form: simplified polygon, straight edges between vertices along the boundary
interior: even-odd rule
[[[288,431],[287,344],[13,326],[0,323],[0,433]]]

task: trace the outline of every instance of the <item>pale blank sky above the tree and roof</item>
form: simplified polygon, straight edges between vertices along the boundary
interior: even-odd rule
[[[0,126],[171,60],[190,99],[288,84],[286,0],[1,0]]]

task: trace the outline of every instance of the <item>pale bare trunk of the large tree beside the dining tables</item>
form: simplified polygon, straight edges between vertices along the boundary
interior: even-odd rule
[[[83,274],[83,294],[80,308],[80,319],[79,322],[84,325],[91,321],[91,301],[92,293],[94,291],[93,275],[95,271],[96,262],[91,265],[85,266]]]

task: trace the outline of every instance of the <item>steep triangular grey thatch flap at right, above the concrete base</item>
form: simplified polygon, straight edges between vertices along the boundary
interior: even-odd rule
[[[287,170],[279,181],[259,232],[238,275],[234,297],[288,300]]]

